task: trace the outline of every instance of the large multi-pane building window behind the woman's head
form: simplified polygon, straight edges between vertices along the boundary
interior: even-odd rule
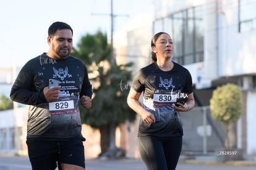
[[[203,9],[192,7],[153,22],[153,32],[167,32],[174,41],[173,61],[186,65],[203,61]]]

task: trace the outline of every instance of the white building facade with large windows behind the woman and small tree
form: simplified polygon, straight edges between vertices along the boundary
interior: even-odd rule
[[[145,19],[151,27],[137,23],[140,27],[127,28],[126,60],[135,61],[135,72],[150,62],[151,37],[167,32],[174,41],[173,61],[192,74],[197,108],[182,115],[183,151],[221,150],[226,132],[220,122],[211,119],[209,100],[216,87],[235,83],[241,88],[244,104],[236,125],[237,148],[242,155],[255,159],[255,7],[255,0],[156,0]],[[148,55],[148,59],[138,62],[143,55]],[[202,128],[208,129],[203,130],[204,135]]]

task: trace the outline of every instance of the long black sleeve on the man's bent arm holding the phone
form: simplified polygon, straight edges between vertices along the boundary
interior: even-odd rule
[[[20,70],[11,88],[11,100],[34,106],[47,102],[43,90],[36,90],[33,83],[34,65],[32,61],[28,61]]]

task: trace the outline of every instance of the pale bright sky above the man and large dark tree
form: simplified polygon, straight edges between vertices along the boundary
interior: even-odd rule
[[[114,32],[139,14],[149,14],[152,0],[113,0]],[[111,0],[2,0],[0,2],[0,68],[22,67],[48,51],[51,23],[68,23],[73,45],[87,33],[111,32]]]

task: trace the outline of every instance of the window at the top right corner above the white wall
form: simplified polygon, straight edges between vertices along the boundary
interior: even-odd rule
[[[239,0],[239,32],[256,29],[256,1]]]

